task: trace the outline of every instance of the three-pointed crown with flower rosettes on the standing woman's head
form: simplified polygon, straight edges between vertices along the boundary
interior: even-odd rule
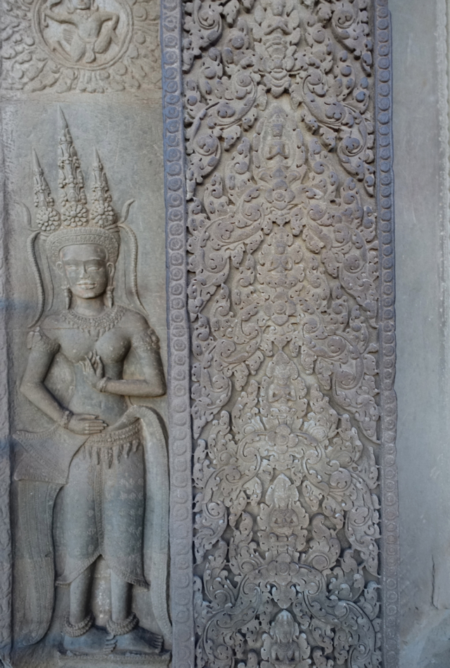
[[[90,210],[86,204],[84,179],[72,135],[60,110],[63,131],[58,146],[58,186],[61,210],[55,208],[49,185],[33,152],[34,205],[37,207],[37,226],[46,236],[50,259],[58,262],[60,250],[68,245],[96,243],[115,263],[120,250],[120,228],[111,206],[108,181],[98,153],[94,151],[94,184]]]

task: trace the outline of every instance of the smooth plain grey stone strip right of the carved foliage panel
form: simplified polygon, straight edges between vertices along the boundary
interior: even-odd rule
[[[446,668],[450,652],[448,6],[440,0],[426,5],[391,0],[390,9],[395,80],[400,665]]]

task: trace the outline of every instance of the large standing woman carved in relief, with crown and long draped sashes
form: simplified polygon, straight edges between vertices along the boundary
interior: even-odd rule
[[[63,633],[62,655],[90,655],[94,663],[105,654],[158,655],[158,664],[167,665],[167,445],[162,418],[139,398],[164,396],[166,384],[158,335],[136,285],[137,242],[126,224],[134,200],[124,204],[119,219],[95,150],[88,208],[81,162],[62,111],[60,126],[58,209],[36,153],[33,164],[37,229],[28,238],[27,255],[38,303],[20,390],[53,424],[14,435],[20,444],[14,470],[18,568],[27,588],[23,609],[18,606],[18,637],[22,646],[39,643],[53,619]],[[122,250],[127,306],[115,302],[121,234],[131,251],[127,262]],[[63,308],[57,305],[58,283]],[[131,350],[143,369],[141,379],[123,378]],[[61,361],[72,378],[65,394]],[[58,379],[51,389],[45,383],[49,373]],[[126,399],[131,396],[133,404]],[[94,406],[96,414],[88,413]],[[59,514],[57,496],[63,504]],[[110,612],[97,627],[94,572],[102,560],[109,571]],[[64,616],[56,586],[69,588]],[[157,627],[144,627],[134,586],[149,591],[146,605]]]

